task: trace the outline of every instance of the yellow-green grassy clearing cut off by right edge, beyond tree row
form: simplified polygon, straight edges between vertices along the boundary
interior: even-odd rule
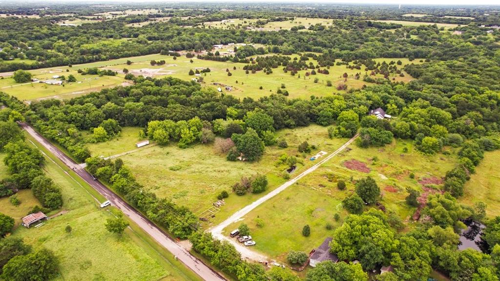
[[[465,183],[465,192],[459,202],[472,206],[475,202],[483,201],[487,206],[486,215],[493,217],[500,215],[500,150],[484,153],[484,159],[476,167],[475,173]]]

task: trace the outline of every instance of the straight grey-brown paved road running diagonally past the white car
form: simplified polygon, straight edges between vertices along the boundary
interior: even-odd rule
[[[26,130],[31,136],[33,136],[41,145],[47,148],[51,153],[53,153],[57,158],[59,158],[66,166],[72,168],[78,176],[85,180],[90,186],[102,194],[106,199],[108,199],[112,205],[119,208],[125,215],[130,217],[135,223],[137,223],[145,232],[147,232],[152,238],[154,238],[158,243],[164,246],[168,251],[182,261],[187,267],[192,271],[201,276],[204,280],[209,281],[224,281],[226,280],[219,273],[212,270],[201,260],[191,255],[189,251],[181,244],[177,243],[175,240],[170,238],[164,231],[159,229],[154,223],[149,221],[146,217],[140,214],[132,206],[127,204],[118,195],[109,190],[106,186],[100,183],[98,180],[92,180],[90,174],[83,169],[80,165],[75,163],[71,158],[69,158],[64,152],[55,147],[52,143],[46,140],[38,132],[36,132],[31,126],[26,123],[20,123],[21,127]]]

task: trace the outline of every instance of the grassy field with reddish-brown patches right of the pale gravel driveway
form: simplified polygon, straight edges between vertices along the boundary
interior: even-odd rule
[[[403,152],[403,147],[407,147],[408,152]],[[374,178],[382,193],[381,203],[409,221],[415,208],[408,207],[404,201],[407,195],[405,187],[421,189],[418,180],[424,177],[440,178],[456,162],[455,155],[424,156],[414,151],[411,141],[406,140],[394,140],[383,148],[359,148],[353,144],[349,148],[352,150],[339,153],[244,217],[242,222],[248,224],[257,242],[256,250],[285,261],[289,250],[309,252],[325,237],[331,236],[347,214],[343,209],[337,211],[336,206],[354,192],[351,176],[352,180],[367,175]],[[351,159],[366,163],[370,171],[365,173],[344,167],[343,162]],[[409,177],[410,172],[414,173],[414,178]],[[336,188],[336,182],[340,179],[346,182],[345,190]],[[392,188],[387,188],[389,185]],[[341,217],[338,222],[333,217],[336,212]],[[263,227],[256,226],[256,218],[263,220]],[[228,226],[224,233],[228,234],[240,223]],[[327,223],[331,224],[331,230],[326,229]],[[311,227],[309,237],[301,234],[305,224]]]

